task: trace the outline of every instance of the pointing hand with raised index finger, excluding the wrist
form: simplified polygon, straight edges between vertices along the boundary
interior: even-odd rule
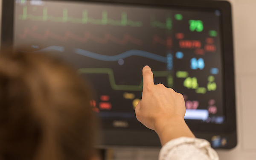
[[[182,94],[163,84],[154,84],[151,68],[143,68],[142,100],[135,108],[137,119],[147,128],[155,130],[158,121],[166,121],[172,117],[183,119],[185,101]]]

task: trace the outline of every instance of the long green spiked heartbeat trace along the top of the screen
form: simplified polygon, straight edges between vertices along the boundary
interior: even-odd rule
[[[112,26],[132,26],[132,27],[141,27],[143,23],[141,21],[132,21],[127,19],[127,13],[121,13],[121,20],[112,20],[108,18],[108,12],[102,11],[101,19],[94,19],[88,17],[88,11],[83,10],[82,18],[75,18],[68,15],[68,9],[63,9],[62,17],[55,17],[52,15],[48,15],[48,9],[45,7],[43,9],[43,15],[32,15],[27,13],[27,6],[23,7],[23,15],[19,15],[19,19],[21,20],[35,20],[35,21],[52,21],[52,22],[62,22],[62,23],[81,23],[81,24],[95,24],[95,25],[112,25]]]

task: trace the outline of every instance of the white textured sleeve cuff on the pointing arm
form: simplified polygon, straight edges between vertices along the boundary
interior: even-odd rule
[[[180,137],[162,147],[159,160],[219,160],[219,158],[207,140]]]

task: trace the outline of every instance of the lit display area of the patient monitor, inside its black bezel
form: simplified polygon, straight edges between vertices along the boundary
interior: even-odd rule
[[[72,64],[94,88],[91,104],[102,119],[136,120],[149,65],[155,84],[183,94],[192,114],[185,119],[222,123],[220,17],[217,10],[17,0],[14,43]]]

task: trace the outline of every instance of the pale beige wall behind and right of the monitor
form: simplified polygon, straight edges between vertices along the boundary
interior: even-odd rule
[[[218,151],[221,160],[256,159],[256,0],[229,0],[233,5],[238,145]],[[0,0],[0,8],[2,0]],[[113,151],[113,152],[112,152]],[[158,150],[114,149],[108,159],[157,160]]]

